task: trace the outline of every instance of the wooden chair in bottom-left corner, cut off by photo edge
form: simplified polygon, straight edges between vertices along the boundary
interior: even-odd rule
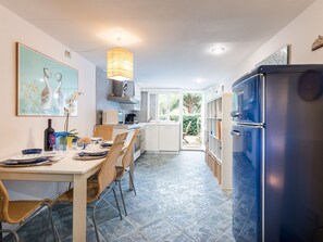
[[[49,205],[50,203],[50,200],[10,201],[8,191],[0,180],[0,241],[2,241],[2,233],[8,232],[13,235],[15,242],[18,242],[20,237],[16,230],[26,221],[35,217],[35,215],[40,212],[44,206],[47,206],[48,208],[53,238],[54,241],[57,241],[55,228],[52,220],[52,211]],[[18,224],[20,226],[15,229],[2,229],[2,222],[11,225]]]

